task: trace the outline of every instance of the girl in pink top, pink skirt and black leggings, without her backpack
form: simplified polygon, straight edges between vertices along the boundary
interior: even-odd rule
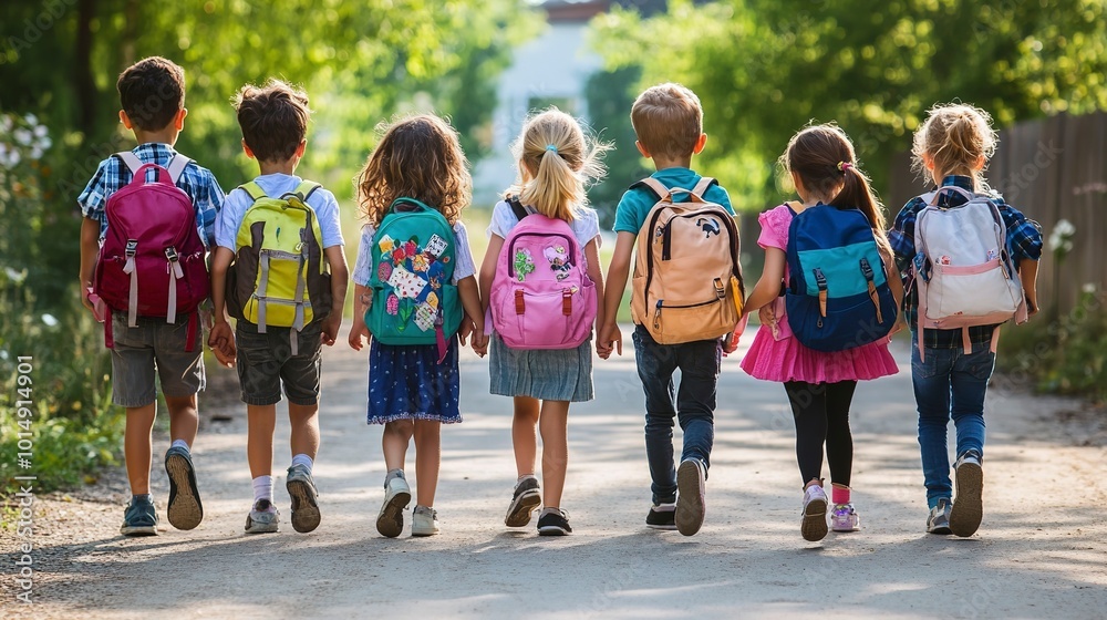
[[[765,268],[746,300],[745,312],[762,310],[762,327],[742,369],[755,379],[784,383],[796,422],[796,456],[804,483],[800,531],[806,540],[827,535],[827,496],[823,488],[823,452],[830,466],[830,527],[852,531],[859,527],[850,502],[853,440],[849,407],[858,381],[894,374],[896,362],[887,339],[840,351],[816,351],[800,343],[789,329],[780,282],[789,283],[787,248],[789,226],[798,214],[816,206],[859,209],[872,229],[886,277],[894,292],[899,281],[884,237],[884,218],[857,167],[853,145],[839,127],[815,125],[796,134],[780,157],[792,175],[800,202],[780,205],[758,216],[757,244],[765,249]],[[829,270],[828,270],[829,271]],[[816,310],[816,313],[818,311]]]

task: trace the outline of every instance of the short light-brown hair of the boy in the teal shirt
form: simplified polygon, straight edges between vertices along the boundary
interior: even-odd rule
[[[630,110],[638,141],[651,155],[690,157],[703,134],[703,107],[691,90],[673,83],[646,89]]]

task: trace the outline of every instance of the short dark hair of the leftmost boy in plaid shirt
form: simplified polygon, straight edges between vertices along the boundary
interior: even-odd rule
[[[164,130],[185,106],[185,70],[162,56],[143,59],[115,82],[120,105],[139,130]]]

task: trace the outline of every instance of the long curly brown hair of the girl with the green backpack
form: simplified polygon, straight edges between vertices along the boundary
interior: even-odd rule
[[[358,175],[358,206],[374,226],[400,197],[438,209],[451,225],[473,197],[473,179],[457,132],[434,114],[377,127],[381,142]]]

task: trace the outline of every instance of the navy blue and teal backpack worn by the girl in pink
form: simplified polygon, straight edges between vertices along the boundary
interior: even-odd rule
[[[831,352],[888,335],[896,298],[865,214],[821,203],[792,213],[785,306],[795,337]]]

